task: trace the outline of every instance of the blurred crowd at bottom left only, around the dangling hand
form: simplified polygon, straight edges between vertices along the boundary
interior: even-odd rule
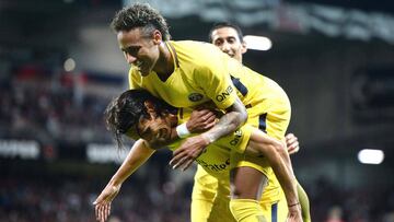
[[[92,202],[103,183],[83,178],[2,178],[0,221],[7,222],[93,222]],[[181,191],[165,192],[143,180],[128,183],[114,201],[109,221],[185,222],[188,199]]]

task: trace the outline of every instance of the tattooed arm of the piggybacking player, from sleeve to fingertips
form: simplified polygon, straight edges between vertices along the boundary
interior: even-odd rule
[[[234,103],[227,108],[225,114],[220,117],[219,121],[208,131],[190,137],[185,140],[181,147],[174,151],[170,165],[173,168],[183,166],[182,170],[189,167],[195,159],[197,159],[204,149],[219,138],[235,131],[247,119],[246,108],[236,96]]]

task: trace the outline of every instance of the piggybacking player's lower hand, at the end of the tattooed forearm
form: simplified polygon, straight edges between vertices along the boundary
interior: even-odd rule
[[[173,157],[170,161],[170,165],[173,168],[182,167],[182,171],[187,170],[194,160],[196,160],[209,144],[209,139],[204,135],[190,137],[181,144],[173,153]]]

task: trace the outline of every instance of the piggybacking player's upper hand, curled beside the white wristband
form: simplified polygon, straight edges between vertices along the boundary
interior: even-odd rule
[[[216,124],[216,115],[209,109],[195,109],[186,122],[187,129],[195,132],[202,132],[212,128]]]

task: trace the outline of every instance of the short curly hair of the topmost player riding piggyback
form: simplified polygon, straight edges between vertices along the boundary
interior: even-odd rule
[[[116,33],[141,27],[146,35],[151,35],[154,30],[159,30],[163,40],[171,38],[165,19],[148,3],[135,3],[119,10],[111,22],[111,27]]]

